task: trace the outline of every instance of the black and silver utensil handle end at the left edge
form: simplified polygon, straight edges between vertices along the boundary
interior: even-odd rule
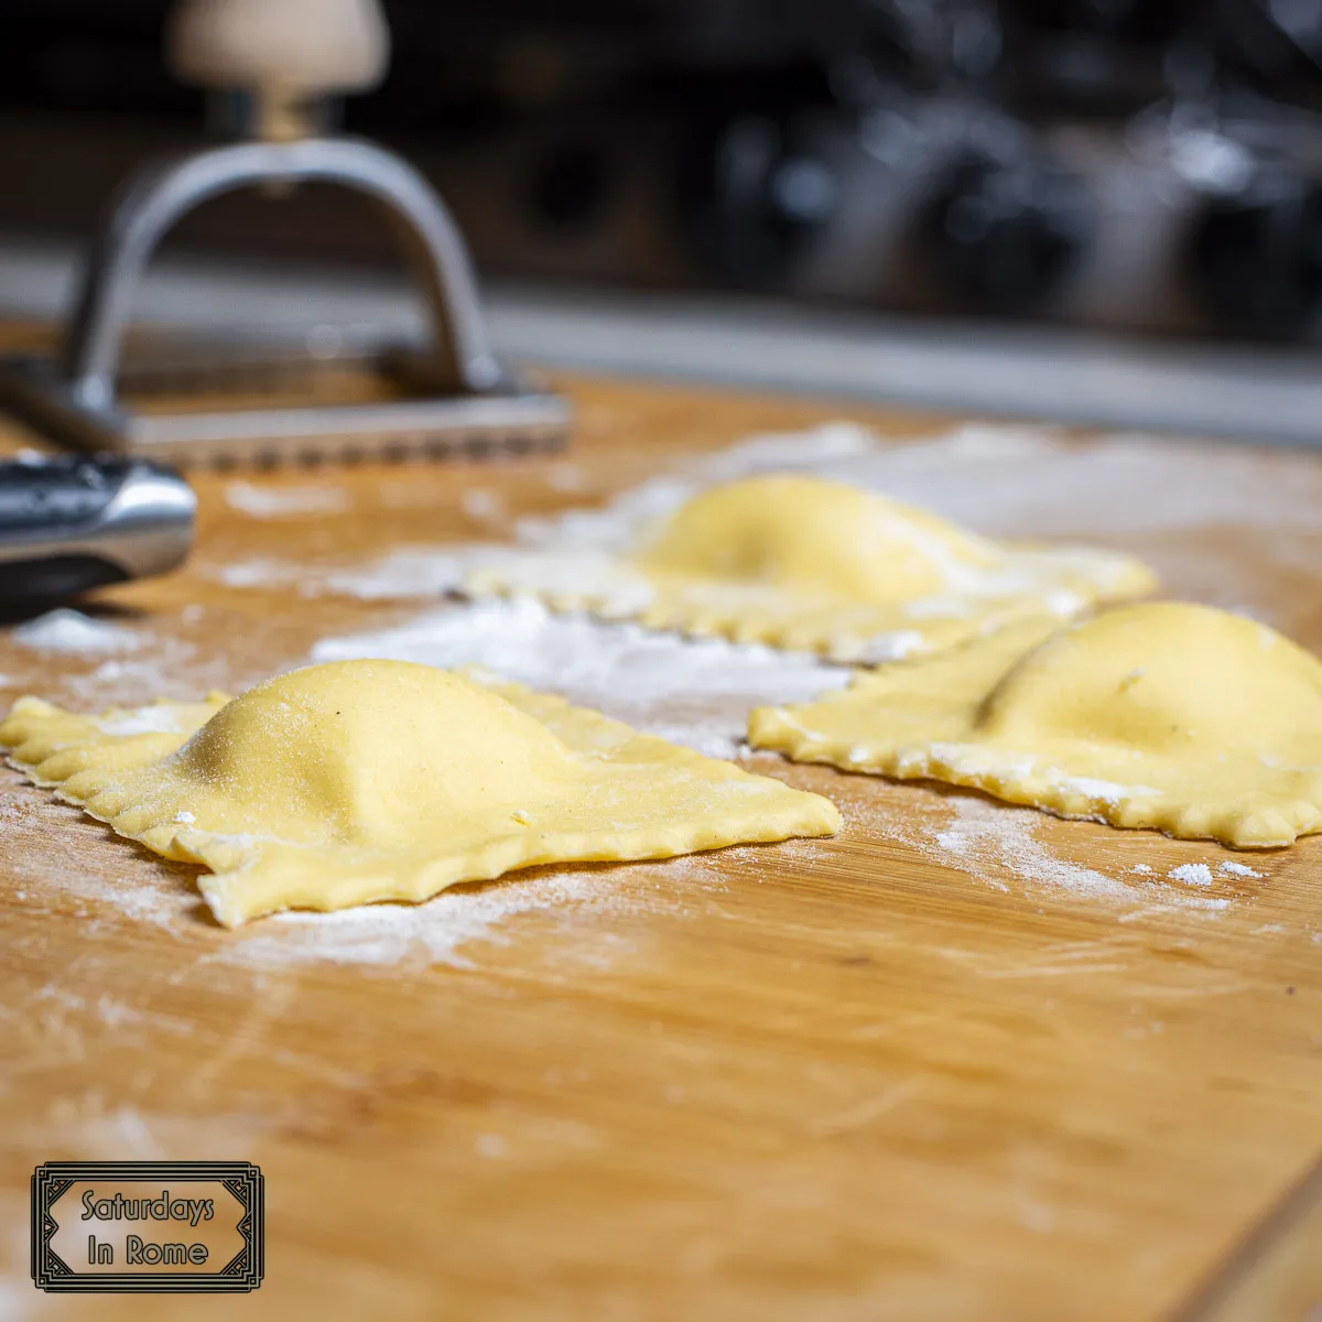
[[[165,574],[188,554],[196,508],[178,473],[144,459],[0,463],[0,608]]]

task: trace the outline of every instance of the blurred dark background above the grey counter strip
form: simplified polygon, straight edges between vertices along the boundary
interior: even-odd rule
[[[77,238],[225,131],[161,0],[0,7],[0,231]],[[488,275],[1313,341],[1322,0],[387,0],[342,127]],[[349,197],[230,197],[185,249],[390,260]],[[3,270],[0,270],[3,280]]]

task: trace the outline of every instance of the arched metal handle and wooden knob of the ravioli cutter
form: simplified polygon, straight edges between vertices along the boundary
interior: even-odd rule
[[[304,132],[320,102],[381,81],[389,45],[375,0],[184,0],[173,11],[171,63],[186,82],[246,95],[255,140],[167,157],[120,190],[65,337],[59,403],[110,426],[119,420],[116,377],[131,303],[176,222],[238,188],[304,182],[364,194],[391,223],[431,321],[430,346],[410,362],[426,389],[480,395],[500,383],[468,250],[427,181],[371,143]]]

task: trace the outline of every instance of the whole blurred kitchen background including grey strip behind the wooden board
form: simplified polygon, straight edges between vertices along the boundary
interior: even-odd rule
[[[272,4],[279,0],[271,0]],[[419,165],[524,361],[1322,443],[1322,0],[385,0],[327,114]],[[0,313],[223,135],[165,0],[0,4]],[[141,315],[414,324],[346,193],[182,225]]]

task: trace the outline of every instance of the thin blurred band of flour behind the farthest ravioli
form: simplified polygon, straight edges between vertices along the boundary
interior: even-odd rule
[[[1126,549],[1141,551],[1133,543],[1144,535],[1259,524],[1270,529],[1270,554],[1289,559],[1298,555],[1298,533],[1322,531],[1322,475],[1306,456],[1207,447],[1191,464],[1187,446],[1169,440],[1121,435],[1097,444],[1069,444],[1048,428],[1014,424],[970,424],[894,444],[857,423],[834,422],[685,456],[670,473],[600,508],[522,518],[516,538],[524,546],[558,553],[613,551],[703,486],[785,471],[880,490],[997,537],[1101,543],[1122,538]],[[571,483],[554,485],[572,488]],[[477,496],[469,493],[469,498]],[[451,591],[492,551],[492,543],[456,543],[408,547],[366,564],[309,568],[264,559],[201,568],[231,587],[297,586],[309,595],[377,600]],[[1167,547],[1163,554],[1178,553]],[[1206,550],[1199,555],[1196,562],[1179,563],[1182,574],[1215,604],[1240,605],[1235,563]]]

